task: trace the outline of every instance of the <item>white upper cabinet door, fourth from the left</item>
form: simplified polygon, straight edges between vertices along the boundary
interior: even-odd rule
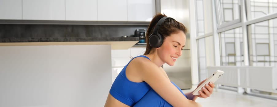
[[[98,0],[98,21],[127,21],[127,0]]]

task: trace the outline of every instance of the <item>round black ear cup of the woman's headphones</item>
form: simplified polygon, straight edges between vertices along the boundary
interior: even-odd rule
[[[158,35],[151,34],[149,37],[149,44],[153,48],[158,48],[158,47],[162,46],[162,44],[163,44],[162,36],[160,34],[158,34]]]

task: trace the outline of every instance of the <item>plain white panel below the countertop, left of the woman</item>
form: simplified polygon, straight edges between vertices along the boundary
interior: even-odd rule
[[[0,46],[0,107],[100,107],[110,45]]]

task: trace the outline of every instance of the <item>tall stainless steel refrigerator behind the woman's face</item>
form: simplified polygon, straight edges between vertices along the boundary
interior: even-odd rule
[[[190,64],[190,19],[189,19],[189,0],[156,0],[160,9],[168,17],[181,22],[188,28],[187,41],[185,50],[182,51],[181,57],[177,59],[174,66],[163,65],[169,79],[181,89],[190,89],[191,83],[191,64]],[[159,7],[160,6],[160,7]]]

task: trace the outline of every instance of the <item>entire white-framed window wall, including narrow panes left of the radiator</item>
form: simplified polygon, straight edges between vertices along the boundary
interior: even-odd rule
[[[208,66],[277,67],[277,0],[195,0],[195,6],[199,81]]]

